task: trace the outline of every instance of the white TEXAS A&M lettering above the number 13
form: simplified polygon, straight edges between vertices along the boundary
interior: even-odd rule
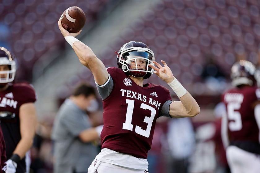
[[[147,99],[147,97],[145,95],[142,95],[142,94],[139,94],[137,92],[130,91],[130,90],[121,89],[120,91],[122,92],[122,97],[125,96],[125,97],[128,97],[128,98],[141,100],[141,101],[143,101],[145,103],[147,102],[147,100],[149,100],[148,101],[149,104],[154,105],[158,109],[160,108],[161,103],[159,103],[156,100],[153,100],[150,97]]]

